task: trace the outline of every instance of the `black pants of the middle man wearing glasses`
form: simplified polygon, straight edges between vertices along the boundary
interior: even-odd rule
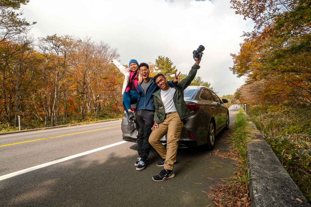
[[[137,121],[137,145],[138,155],[140,158],[147,159],[150,152],[149,136],[151,134],[151,127],[154,124],[154,112],[150,110],[137,110],[135,113]]]

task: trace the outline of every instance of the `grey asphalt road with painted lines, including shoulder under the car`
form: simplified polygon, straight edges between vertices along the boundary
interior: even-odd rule
[[[236,112],[230,110],[230,121]],[[152,150],[146,169],[136,171],[137,144],[122,142],[120,124],[0,136],[0,206],[205,207],[212,201],[202,191],[235,170],[203,147],[179,149],[175,178],[154,182],[160,156]],[[223,136],[214,150],[225,151]]]

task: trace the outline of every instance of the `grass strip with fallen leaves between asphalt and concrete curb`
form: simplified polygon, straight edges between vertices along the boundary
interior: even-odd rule
[[[249,169],[247,168],[247,143],[250,139],[250,128],[248,119],[242,110],[235,116],[234,127],[229,130],[229,138],[225,142],[229,143],[229,155],[235,160],[238,166],[236,175],[227,178],[226,184],[219,184],[216,187],[210,187],[207,196],[214,201],[216,206],[250,206],[249,197]],[[222,156],[222,155],[220,155]]]

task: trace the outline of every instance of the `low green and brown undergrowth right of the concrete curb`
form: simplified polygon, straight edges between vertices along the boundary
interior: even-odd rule
[[[253,106],[248,114],[310,202],[311,109],[278,105]]]

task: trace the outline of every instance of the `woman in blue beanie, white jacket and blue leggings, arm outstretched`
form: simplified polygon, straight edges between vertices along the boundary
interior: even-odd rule
[[[128,63],[129,68],[124,67],[121,63],[119,63],[117,60],[111,60],[110,62],[113,62],[115,66],[118,67],[121,73],[124,74],[125,78],[123,81],[123,87],[122,87],[122,94],[123,94],[123,107],[126,111],[126,114],[128,115],[128,128],[127,130],[131,130],[132,124],[130,121],[134,118],[134,113],[131,110],[131,104],[137,103],[137,83],[138,83],[138,68],[139,64],[137,60],[131,59]],[[141,81],[140,81],[141,82]]]

